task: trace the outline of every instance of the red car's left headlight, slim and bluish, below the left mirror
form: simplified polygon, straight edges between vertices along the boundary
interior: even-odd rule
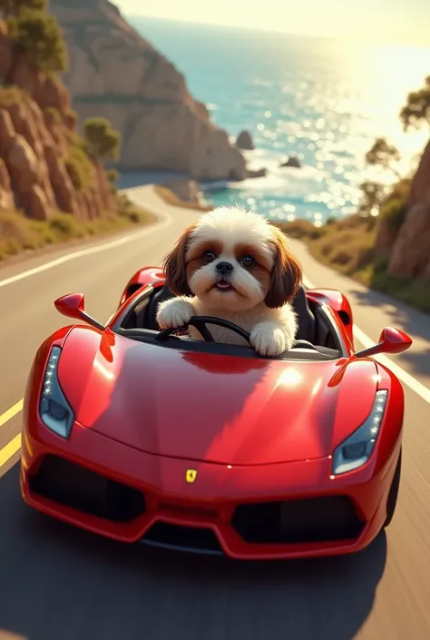
[[[73,410],[64,397],[57,378],[60,347],[53,347],[44,372],[44,386],[40,399],[40,417],[51,431],[62,438],[69,438],[73,427]]]

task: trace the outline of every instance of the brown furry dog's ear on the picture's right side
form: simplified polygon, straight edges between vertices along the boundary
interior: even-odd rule
[[[273,228],[272,244],[275,264],[271,272],[268,295],[264,301],[269,309],[278,309],[298,294],[302,269],[288,247],[287,238],[277,227]]]

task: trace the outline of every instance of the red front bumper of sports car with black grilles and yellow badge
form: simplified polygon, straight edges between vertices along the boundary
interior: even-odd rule
[[[383,527],[400,442],[376,476],[330,478],[331,459],[261,467],[143,453],[75,423],[64,440],[24,424],[21,490],[30,506],[93,533],[237,559],[334,556]],[[187,483],[186,470],[197,470]]]

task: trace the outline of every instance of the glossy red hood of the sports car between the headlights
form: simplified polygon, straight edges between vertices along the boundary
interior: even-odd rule
[[[330,455],[368,416],[376,364],[211,355],[76,328],[58,376],[76,420],[142,451],[227,465]]]

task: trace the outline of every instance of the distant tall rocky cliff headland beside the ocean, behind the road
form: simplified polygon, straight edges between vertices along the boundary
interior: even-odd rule
[[[64,82],[81,119],[107,118],[122,134],[121,168],[186,172],[198,180],[242,180],[245,161],[210,122],[183,75],[107,0],[51,0],[64,30]]]

